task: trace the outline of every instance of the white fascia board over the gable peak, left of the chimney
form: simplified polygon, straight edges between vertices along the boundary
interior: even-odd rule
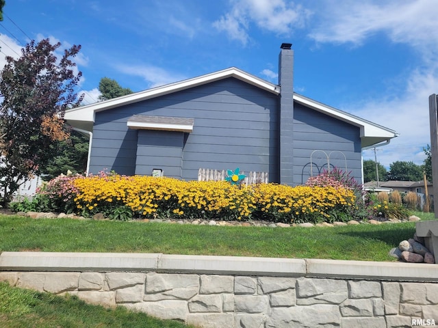
[[[174,92],[189,89],[190,87],[196,87],[198,85],[211,83],[221,79],[227,79],[228,77],[234,77],[235,79],[239,79],[251,85],[255,85],[256,87],[259,87],[276,95],[280,94],[279,85],[275,85],[263,79],[259,79],[254,75],[239,70],[238,68],[231,67],[225,70],[220,70],[218,72],[201,75],[201,77],[194,77],[192,79],[187,79],[184,81],[162,85],[160,87],[154,87],[149,90],[136,92],[135,94],[128,94],[127,96],[121,96],[110,100],[95,102],[91,105],[69,109],[65,112],[64,119],[94,122],[94,113],[96,112],[105,111],[107,109],[112,109],[114,107],[119,107],[123,105],[129,105],[134,102],[163,96],[165,94],[172,94]]]

